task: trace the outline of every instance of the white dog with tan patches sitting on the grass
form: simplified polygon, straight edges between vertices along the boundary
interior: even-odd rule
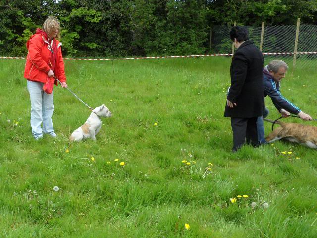
[[[87,138],[96,140],[96,135],[100,131],[102,125],[100,117],[111,117],[111,112],[105,104],[95,108],[86,120],[86,123],[75,130],[69,137],[69,140],[71,142],[81,141],[82,139]]]

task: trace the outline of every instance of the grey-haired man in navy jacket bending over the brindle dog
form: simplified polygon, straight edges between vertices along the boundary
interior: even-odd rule
[[[287,64],[282,60],[272,60],[267,66],[264,67],[264,97],[268,95],[271,98],[274,106],[285,118],[292,113],[298,115],[303,120],[312,120],[310,115],[304,113],[293,103],[284,98],[279,91],[280,82],[283,78],[285,78],[287,69]],[[265,118],[268,113],[268,110],[265,108],[263,117]],[[264,138],[263,117],[258,117],[257,120],[258,138],[261,144],[266,143]]]

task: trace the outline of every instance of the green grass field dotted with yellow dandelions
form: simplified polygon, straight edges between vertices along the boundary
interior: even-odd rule
[[[113,112],[96,142],[71,145],[89,110],[55,88],[58,139],[34,141],[24,64],[0,60],[1,238],[317,237],[315,150],[276,142],[230,152],[230,58],[118,60],[114,75],[110,61],[65,60],[69,88]],[[307,65],[281,91],[317,118]]]

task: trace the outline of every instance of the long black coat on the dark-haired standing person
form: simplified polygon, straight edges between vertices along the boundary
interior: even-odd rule
[[[262,52],[251,42],[244,42],[234,53],[230,66],[231,86],[227,99],[237,106],[225,106],[224,116],[231,118],[252,118],[263,115]]]

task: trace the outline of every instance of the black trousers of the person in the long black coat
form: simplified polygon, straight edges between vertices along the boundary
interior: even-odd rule
[[[231,118],[231,127],[233,132],[233,148],[236,152],[247,142],[254,147],[259,146],[257,117],[254,118]]]

